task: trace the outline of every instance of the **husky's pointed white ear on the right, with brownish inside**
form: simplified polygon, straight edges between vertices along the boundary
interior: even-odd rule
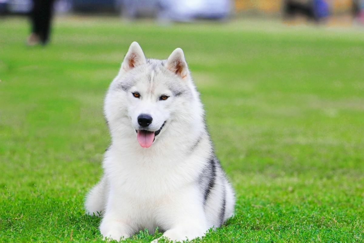
[[[183,54],[181,48],[177,48],[172,52],[167,59],[165,66],[175,74],[179,75],[182,79],[189,75],[185,54]]]

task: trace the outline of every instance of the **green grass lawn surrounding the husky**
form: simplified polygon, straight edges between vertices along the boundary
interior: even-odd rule
[[[183,48],[236,189],[236,215],[194,242],[364,241],[362,30],[90,17],[54,27],[49,46],[30,48],[25,19],[1,20],[0,242],[102,241],[83,199],[110,141],[103,96],[134,40],[147,57]]]

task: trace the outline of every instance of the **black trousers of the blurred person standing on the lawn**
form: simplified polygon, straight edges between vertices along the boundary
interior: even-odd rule
[[[50,35],[53,3],[54,0],[33,0],[32,32],[39,36],[43,44],[48,42]]]

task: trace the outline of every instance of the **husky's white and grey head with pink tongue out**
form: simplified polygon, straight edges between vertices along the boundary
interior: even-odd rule
[[[198,93],[181,48],[167,60],[146,59],[133,42],[110,85],[104,111],[112,134],[132,131],[148,148],[171,124],[183,127],[187,119],[194,120],[194,101]]]

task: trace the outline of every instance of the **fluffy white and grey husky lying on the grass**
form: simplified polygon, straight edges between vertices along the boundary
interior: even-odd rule
[[[181,48],[167,60],[146,59],[133,42],[107,91],[104,114],[111,145],[85,202],[87,213],[102,215],[104,238],[158,227],[170,240],[191,240],[233,215],[234,192]]]

